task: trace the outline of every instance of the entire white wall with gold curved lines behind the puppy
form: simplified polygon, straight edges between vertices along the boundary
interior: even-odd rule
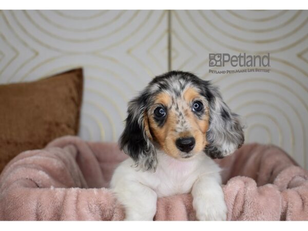
[[[126,104],[168,69],[220,86],[246,142],[308,167],[308,11],[0,11],[0,83],[83,66],[80,136],[117,141]],[[270,53],[269,73],[209,73],[209,53]],[[232,67],[212,68],[215,70]]]

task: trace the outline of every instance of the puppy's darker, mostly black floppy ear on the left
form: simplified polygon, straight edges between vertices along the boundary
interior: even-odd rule
[[[151,142],[151,134],[146,115],[146,93],[128,103],[127,118],[119,146],[135,162],[135,167],[154,170],[157,165],[156,149]]]

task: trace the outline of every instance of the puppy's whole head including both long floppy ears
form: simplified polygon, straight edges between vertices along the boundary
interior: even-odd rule
[[[154,78],[128,105],[120,147],[145,170],[155,170],[156,149],[180,160],[204,151],[223,158],[244,142],[238,115],[218,89],[189,72]]]

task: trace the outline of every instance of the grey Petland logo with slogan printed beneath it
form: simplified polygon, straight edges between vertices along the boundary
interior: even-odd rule
[[[246,53],[240,53],[239,55],[230,55],[228,53],[210,53],[208,55],[209,67],[224,67],[226,64],[230,64],[232,67],[249,67],[247,69],[238,70],[211,70],[209,73],[240,73],[240,72],[269,72],[270,59],[269,53],[265,55],[246,55]],[[251,68],[251,67],[265,67]]]

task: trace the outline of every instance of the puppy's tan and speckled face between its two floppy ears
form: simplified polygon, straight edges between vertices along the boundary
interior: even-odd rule
[[[153,97],[146,113],[148,132],[167,155],[189,159],[207,144],[208,102],[192,85],[174,87]]]

